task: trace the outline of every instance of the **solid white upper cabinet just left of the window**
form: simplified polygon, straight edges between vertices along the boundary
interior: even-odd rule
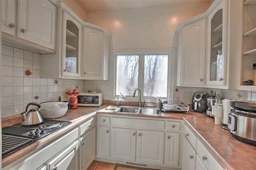
[[[84,27],[82,79],[108,80],[110,38],[103,31]]]

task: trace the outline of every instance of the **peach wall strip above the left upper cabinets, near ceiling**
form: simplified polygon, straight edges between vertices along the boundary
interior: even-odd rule
[[[70,10],[72,10],[81,20],[86,20],[86,12],[84,9],[76,2],[76,0],[58,0],[62,1]]]

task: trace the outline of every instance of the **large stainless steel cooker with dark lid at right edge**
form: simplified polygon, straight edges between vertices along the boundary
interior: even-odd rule
[[[231,101],[228,129],[235,139],[256,146],[256,104]]]

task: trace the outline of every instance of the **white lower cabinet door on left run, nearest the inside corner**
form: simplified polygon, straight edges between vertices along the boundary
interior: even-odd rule
[[[86,170],[95,158],[95,127],[79,139],[80,170]]]

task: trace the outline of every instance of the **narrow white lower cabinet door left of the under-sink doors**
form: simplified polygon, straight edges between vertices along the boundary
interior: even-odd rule
[[[110,158],[110,127],[98,126],[97,157]]]

